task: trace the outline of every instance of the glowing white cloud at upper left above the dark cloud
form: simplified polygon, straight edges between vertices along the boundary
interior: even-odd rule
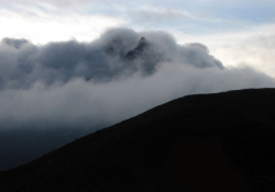
[[[0,38],[28,38],[45,44],[76,38],[92,41],[109,27],[122,25],[121,18],[101,14],[78,14],[77,12],[47,13],[35,7],[18,5],[20,12],[0,9]]]

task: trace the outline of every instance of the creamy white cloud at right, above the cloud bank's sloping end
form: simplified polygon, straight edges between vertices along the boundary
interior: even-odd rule
[[[172,31],[179,44],[200,42],[227,67],[251,66],[275,77],[275,24],[245,27],[239,32],[187,35]]]

